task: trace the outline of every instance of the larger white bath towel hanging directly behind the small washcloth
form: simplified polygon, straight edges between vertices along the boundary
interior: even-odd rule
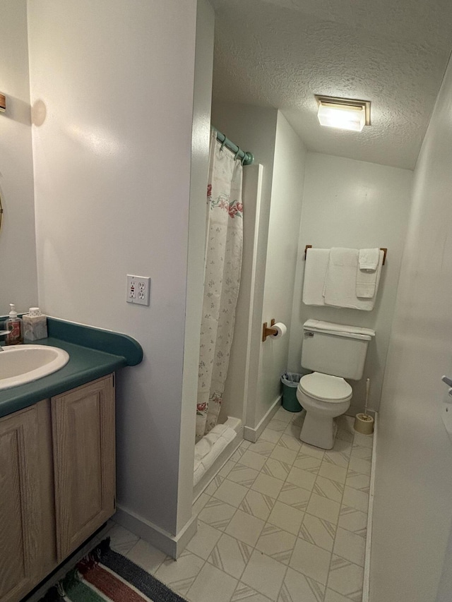
[[[371,311],[374,308],[376,294],[371,299],[361,299],[356,294],[358,270],[358,249],[333,247],[330,251],[328,270],[326,271],[324,297],[326,305],[349,307]],[[379,272],[377,270],[378,289]]]

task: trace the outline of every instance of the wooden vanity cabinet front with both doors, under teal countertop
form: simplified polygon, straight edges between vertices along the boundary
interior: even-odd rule
[[[0,602],[18,602],[115,510],[114,375],[0,418]]]

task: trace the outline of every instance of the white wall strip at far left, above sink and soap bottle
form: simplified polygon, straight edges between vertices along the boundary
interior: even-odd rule
[[[0,315],[16,303],[28,311],[37,303],[35,205],[28,78],[27,2],[0,6]]]

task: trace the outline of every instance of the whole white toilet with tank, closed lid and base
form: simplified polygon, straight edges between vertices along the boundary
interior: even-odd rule
[[[297,387],[297,399],[306,410],[299,438],[304,443],[331,450],[335,418],[350,407],[352,387],[344,380],[359,380],[367,347],[375,331],[321,320],[303,325],[302,367],[312,370]]]

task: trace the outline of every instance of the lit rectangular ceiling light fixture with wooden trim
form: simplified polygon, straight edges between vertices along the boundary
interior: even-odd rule
[[[362,131],[364,126],[370,126],[369,100],[315,96],[319,104],[317,117],[321,126],[356,132]]]

